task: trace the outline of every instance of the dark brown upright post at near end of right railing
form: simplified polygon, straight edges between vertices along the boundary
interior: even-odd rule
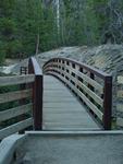
[[[112,77],[106,77],[104,93],[103,93],[103,128],[111,129],[111,113],[112,113]]]

